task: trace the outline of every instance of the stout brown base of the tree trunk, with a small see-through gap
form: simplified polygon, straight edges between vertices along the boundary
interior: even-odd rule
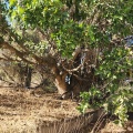
[[[54,66],[52,69],[55,80],[54,84],[62,99],[76,98],[82,91],[89,91],[91,82],[78,78],[74,74],[69,74],[66,71],[60,73],[59,69]]]

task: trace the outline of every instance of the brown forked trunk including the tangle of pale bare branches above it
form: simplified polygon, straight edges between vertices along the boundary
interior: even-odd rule
[[[63,63],[66,64],[66,62],[62,62],[61,69],[57,64],[52,68],[55,75],[54,84],[63,99],[78,96],[80,92],[89,91],[91,85],[95,83],[94,65],[96,61],[94,51],[76,49],[72,64],[68,63],[70,68],[64,68]]]

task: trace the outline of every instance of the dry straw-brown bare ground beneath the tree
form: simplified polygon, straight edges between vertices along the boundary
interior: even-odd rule
[[[0,133],[37,133],[42,124],[80,115],[76,106],[72,100],[59,100],[57,93],[45,93],[41,89],[0,88]],[[88,125],[83,133],[90,133],[94,124]],[[133,121],[124,127],[110,122],[100,129],[95,133],[133,133]]]

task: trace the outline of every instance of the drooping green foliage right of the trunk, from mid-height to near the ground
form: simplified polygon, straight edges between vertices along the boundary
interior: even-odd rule
[[[123,82],[127,78],[126,73],[133,68],[132,55],[131,49],[114,48],[105,51],[104,59],[95,72],[104,81],[104,85],[91,88],[89,92],[81,94],[82,102],[78,109],[82,113],[88,108],[104,108],[108,113],[119,117],[115,121],[119,124],[127,121],[127,111],[133,111],[133,90],[132,86],[123,85]]]

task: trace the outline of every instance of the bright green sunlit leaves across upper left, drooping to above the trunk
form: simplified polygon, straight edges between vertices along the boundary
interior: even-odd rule
[[[75,3],[75,8],[80,4],[82,1]],[[11,0],[9,16],[12,23],[18,21],[22,28],[40,28],[44,33],[49,32],[62,55],[71,57],[76,45],[94,43],[93,27],[82,20],[81,12],[84,17],[85,13],[74,11],[72,6],[73,2],[70,6],[60,0]]]

